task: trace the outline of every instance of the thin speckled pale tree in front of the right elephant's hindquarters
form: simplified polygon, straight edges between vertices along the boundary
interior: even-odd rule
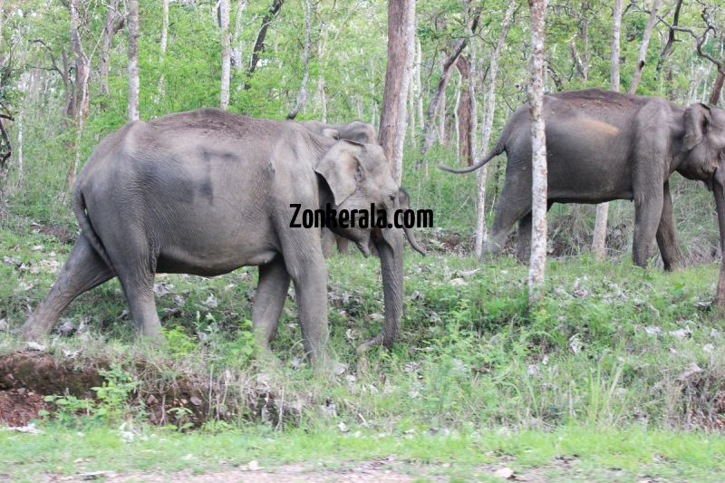
[[[546,268],[546,130],[544,121],[544,23],[547,0],[528,0],[531,13],[531,81],[528,111],[531,117],[531,258],[528,269],[528,301],[544,295]]]

